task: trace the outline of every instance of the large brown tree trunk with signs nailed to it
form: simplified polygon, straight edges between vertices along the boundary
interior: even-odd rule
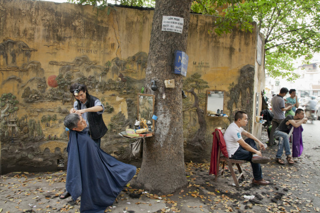
[[[172,193],[187,184],[183,151],[182,75],[173,74],[174,51],[186,52],[192,0],[156,0],[151,31],[146,93],[155,94],[155,135],[143,146],[135,184],[155,193]],[[183,33],[162,31],[162,16],[184,18]],[[175,88],[164,88],[174,79]],[[151,80],[157,91],[151,90]],[[164,91],[163,91],[164,90]],[[162,94],[165,92],[165,98]]]

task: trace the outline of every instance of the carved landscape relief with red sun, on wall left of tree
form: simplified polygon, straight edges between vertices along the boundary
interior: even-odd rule
[[[126,60],[115,58],[106,61],[104,66],[97,65],[96,61],[91,61],[86,55],[78,56],[72,62],[49,61],[49,65],[58,67],[59,73],[46,77],[40,62],[28,62],[32,57],[30,51],[36,50],[29,48],[26,43],[6,40],[0,43],[0,47],[3,59],[0,69],[2,74],[10,73],[1,86],[9,84],[17,88],[16,94],[2,93],[0,97],[1,159],[2,164],[7,162],[3,164],[7,170],[10,167],[40,165],[62,168],[58,164],[67,157],[67,134],[63,130],[62,121],[75,100],[69,92],[73,82],[87,85],[90,93],[96,93],[100,97],[105,106],[105,114],[113,115],[107,120],[108,144],[117,141],[115,136],[126,126],[133,126],[136,104],[132,100],[136,99],[135,94],[144,83],[148,57],[146,53],[139,52]],[[132,78],[132,74],[142,78]],[[108,102],[113,96],[125,102],[125,112],[130,113],[125,116],[122,111],[115,112]],[[104,140],[106,138],[102,139]],[[102,147],[111,153],[117,150],[115,147],[107,148],[108,144]],[[119,155],[119,152],[115,153]]]

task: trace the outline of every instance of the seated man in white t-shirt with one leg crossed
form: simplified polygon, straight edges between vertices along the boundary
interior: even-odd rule
[[[238,111],[234,116],[234,122],[228,126],[224,133],[226,150],[229,158],[251,162],[254,173],[252,183],[267,185],[269,182],[262,178],[260,163],[268,163],[270,162],[270,158],[263,157],[261,152],[257,150],[256,142],[259,144],[260,149],[265,150],[261,141],[242,128],[242,126],[246,126],[247,123],[247,114],[245,112]],[[243,140],[241,135],[248,138]]]

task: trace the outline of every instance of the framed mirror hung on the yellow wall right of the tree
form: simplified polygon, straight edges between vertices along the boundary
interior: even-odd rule
[[[207,90],[206,115],[220,115],[224,112],[224,91]]]

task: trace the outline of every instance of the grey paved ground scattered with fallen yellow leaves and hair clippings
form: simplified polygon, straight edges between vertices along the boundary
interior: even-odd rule
[[[240,188],[232,185],[228,170],[214,182],[209,176],[209,164],[186,163],[188,185],[172,195],[153,195],[143,189],[126,187],[118,203],[106,209],[113,213],[223,213],[223,212],[319,212],[320,211],[320,121],[305,124],[303,154],[294,165],[279,165],[274,161],[276,146],[268,147],[263,155],[273,161],[263,165],[268,186],[251,183],[250,163],[244,164],[246,180]],[[309,132],[308,132],[309,131]],[[313,136],[314,135],[314,136]],[[262,142],[267,141],[266,132]],[[16,172],[0,176],[0,213],[78,213],[80,200],[60,200],[66,173]],[[254,198],[244,197],[255,196]]]

